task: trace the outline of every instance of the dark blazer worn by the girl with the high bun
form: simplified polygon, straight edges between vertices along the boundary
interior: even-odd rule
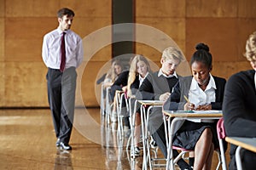
[[[214,77],[214,82],[216,84],[216,101],[212,102],[212,110],[221,110],[222,109],[222,103],[224,98],[224,87],[226,80],[221,77]],[[191,76],[189,77],[182,77],[179,79],[178,83],[173,89],[173,92],[169,99],[167,99],[164,109],[165,110],[171,110],[171,111],[183,111],[183,106],[187,103],[187,101],[183,98],[183,95],[188,96],[189,95],[189,89],[192,82]]]

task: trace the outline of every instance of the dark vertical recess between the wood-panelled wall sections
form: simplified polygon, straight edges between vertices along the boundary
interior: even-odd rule
[[[134,0],[112,0],[112,58],[124,65],[135,53],[135,28],[128,23],[135,23]]]

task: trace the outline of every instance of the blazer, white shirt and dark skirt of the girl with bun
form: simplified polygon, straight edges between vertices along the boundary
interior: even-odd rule
[[[164,109],[171,111],[183,111],[187,101],[183,96],[189,96],[189,102],[197,105],[211,104],[212,110],[221,110],[224,98],[225,79],[213,77],[210,74],[210,81],[207,88],[202,91],[193,77],[183,77],[175,86],[170,98],[164,105]],[[177,125],[173,133],[173,145],[183,147],[187,150],[195,150],[195,144],[201,137],[201,133],[209,127],[212,130],[212,143],[218,147],[216,131],[217,121],[208,120],[186,120]]]

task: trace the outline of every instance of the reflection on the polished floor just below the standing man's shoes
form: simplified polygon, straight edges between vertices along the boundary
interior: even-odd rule
[[[55,156],[55,170],[73,170],[71,154],[69,151],[57,149]]]

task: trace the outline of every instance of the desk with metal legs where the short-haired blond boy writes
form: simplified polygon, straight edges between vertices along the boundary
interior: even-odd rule
[[[137,100],[137,102],[141,104],[141,123],[143,136],[143,169],[147,169],[148,162],[150,169],[152,169],[150,163],[150,150],[148,144],[148,116],[150,110],[152,110],[154,107],[162,107],[162,105],[164,105],[164,102],[160,100]],[[146,106],[148,106],[147,112]]]

